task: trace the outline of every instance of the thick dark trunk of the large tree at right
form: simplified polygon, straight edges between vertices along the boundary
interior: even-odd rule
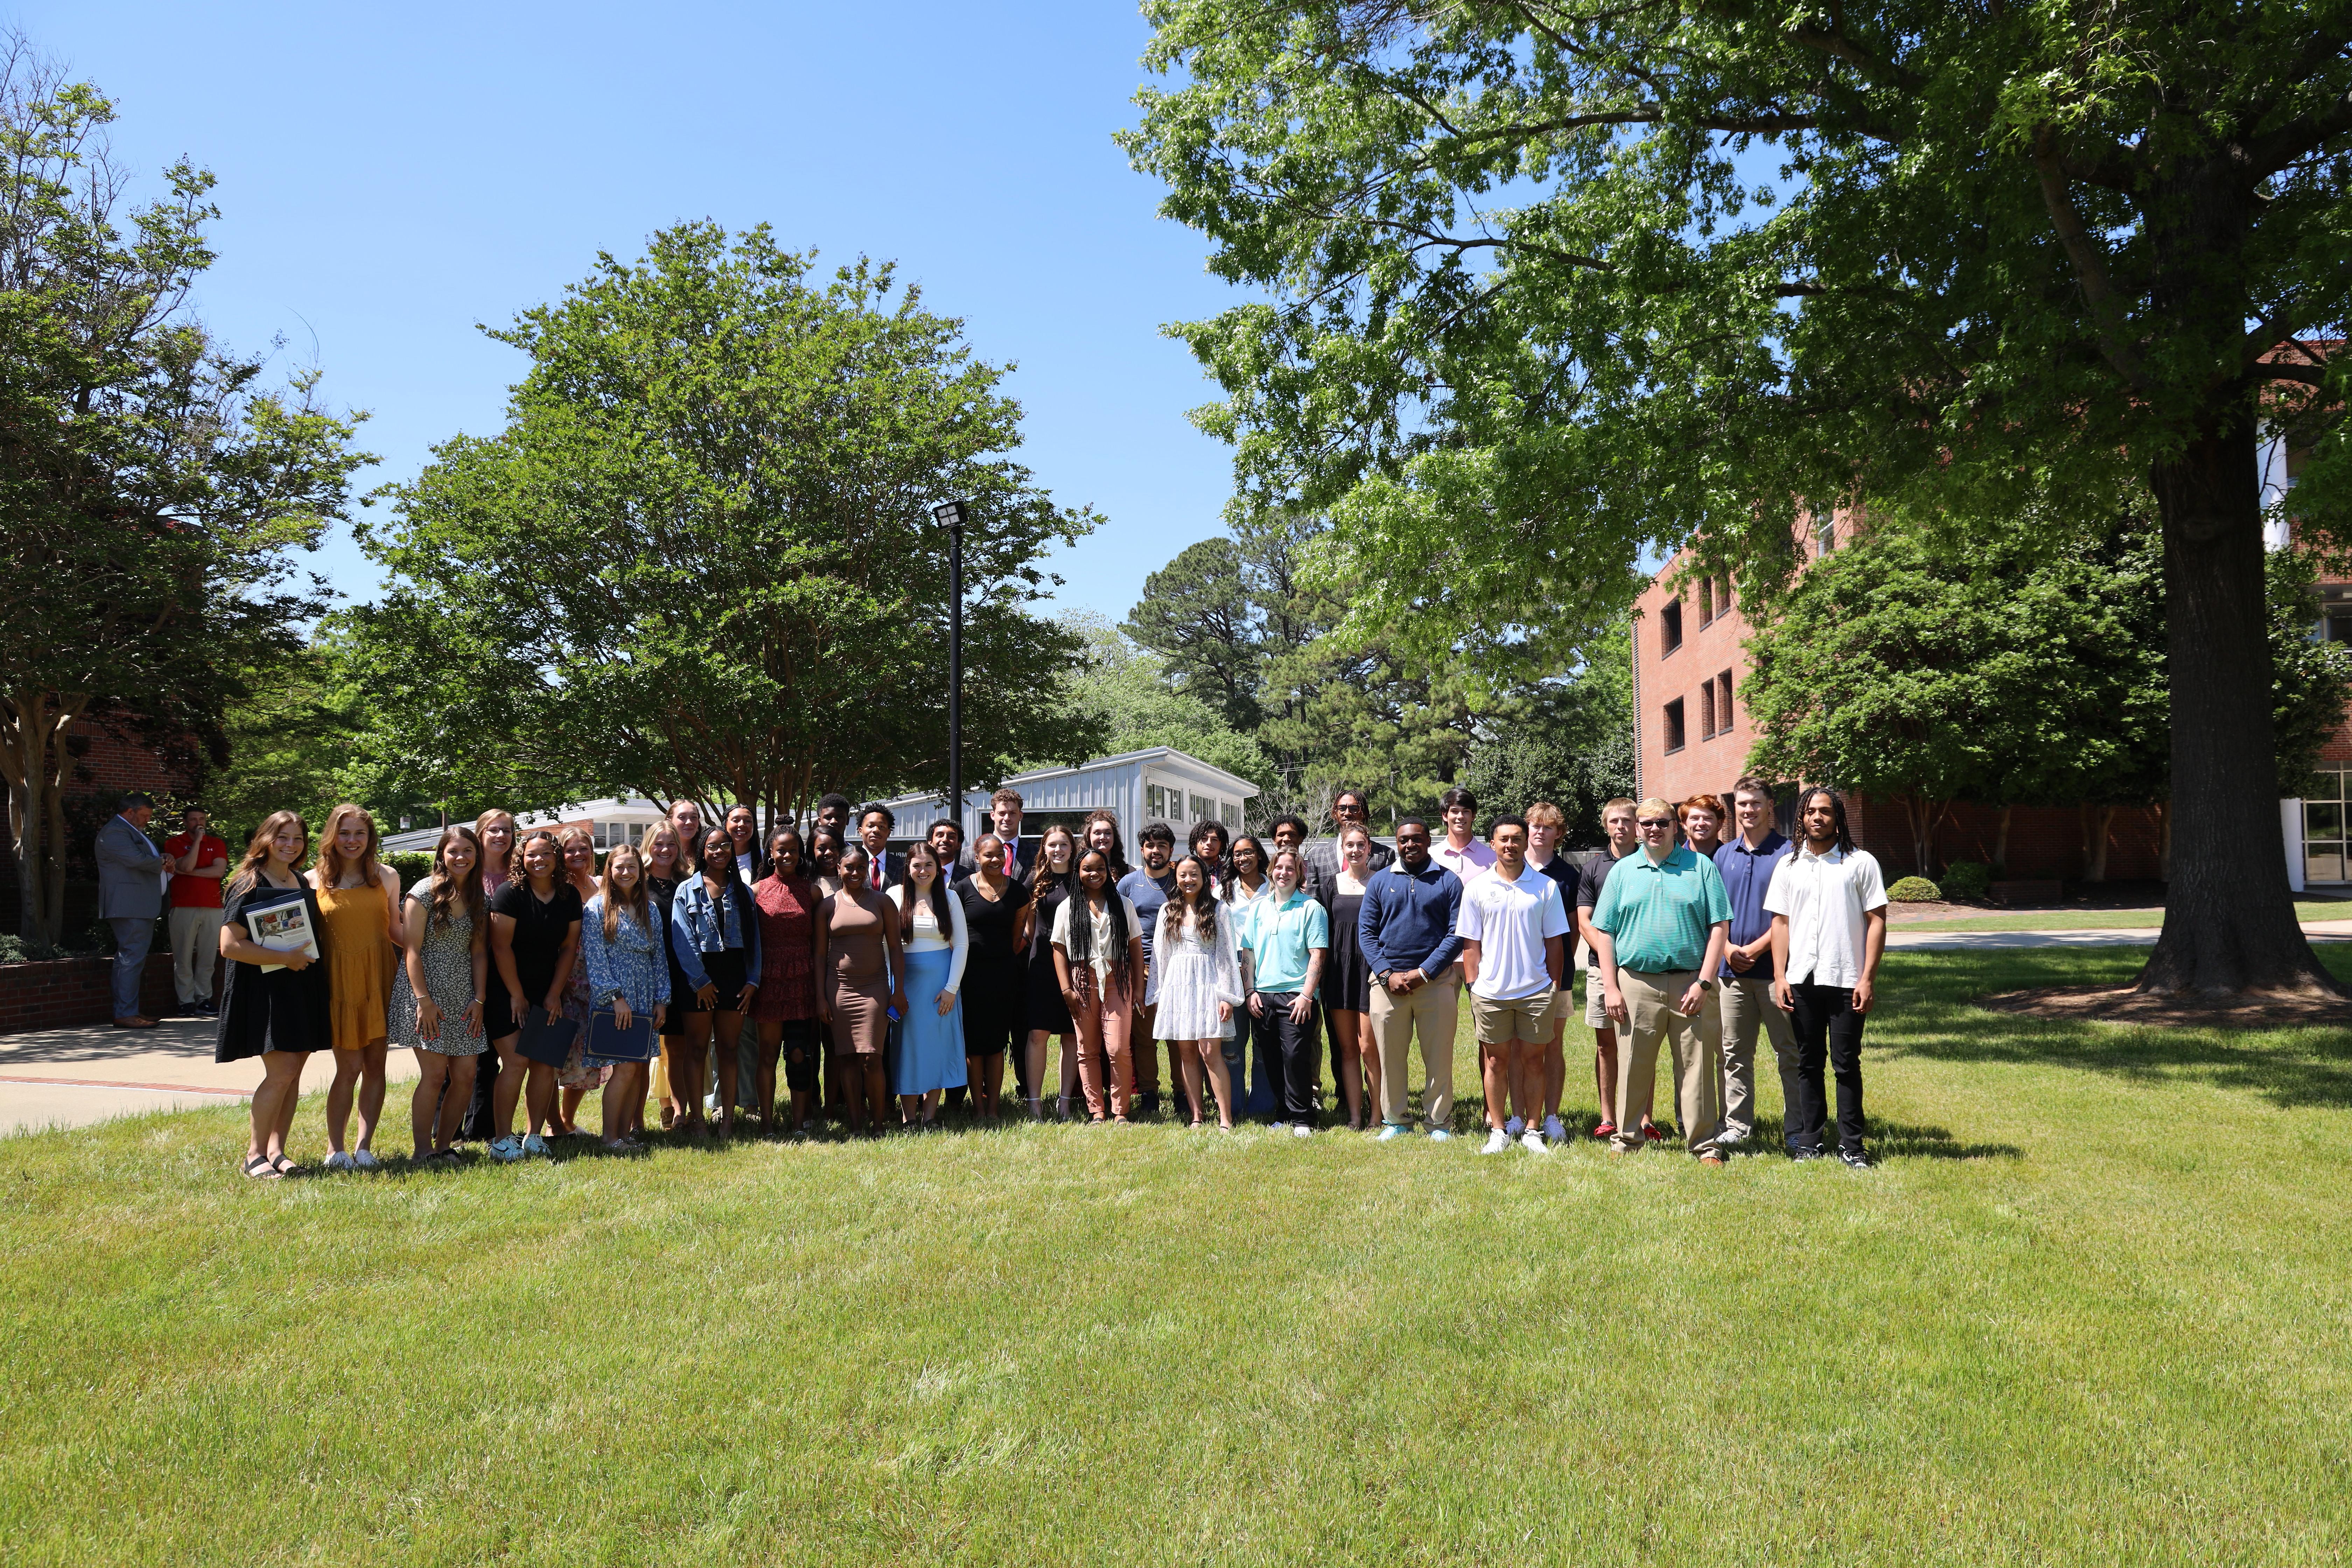
[[[2138,990],[2345,994],[2286,886],[2253,423],[2209,418],[2178,456],[2152,463],[2150,482],[2164,517],[2178,827],[2164,933]]]

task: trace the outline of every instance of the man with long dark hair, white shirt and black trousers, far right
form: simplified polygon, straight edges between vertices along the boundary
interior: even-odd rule
[[[1806,790],[1797,806],[1804,846],[1773,867],[1764,907],[1771,912],[1773,1001],[1797,1025],[1797,1091],[1788,1112],[1788,1152],[1820,1159],[1828,1103],[1820,1060],[1837,1074],[1837,1157],[1870,1168],[1863,1150],[1863,1016],[1877,1001],[1886,952],[1886,889],[1879,863],[1853,846],[1846,802],[1835,790]]]

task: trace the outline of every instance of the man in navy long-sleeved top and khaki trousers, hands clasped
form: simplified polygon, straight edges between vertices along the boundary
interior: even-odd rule
[[[1404,1053],[1421,1034],[1421,1112],[1430,1138],[1451,1138],[1454,1025],[1461,997],[1454,957],[1461,952],[1461,877],[1430,860],[1430,825],[1418,816],[1397,823],[1397,863],[1364,884],[1357,943],[1371,969],[1371,1032],[1381,1041],[1381,1143],[1404,1138]]]

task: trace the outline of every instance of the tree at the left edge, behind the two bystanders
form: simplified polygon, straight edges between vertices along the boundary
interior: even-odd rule
[[[113,106],[0,40],[0,778],[19,931],[64,919],[66,729],[207,729],[325,607],[294,555],[343,515],[353,421],[263,383],[188,310],[212,176],[132,205]]]

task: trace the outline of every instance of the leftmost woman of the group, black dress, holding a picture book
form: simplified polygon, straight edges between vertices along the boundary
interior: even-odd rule
[[[310,830],[301,813],[275,811],[245,846],[245,860],[228,875],[221,907],[221,1025],[212,1060],[240,1063],[261,1058],[261,1086],[254,1091],[254,1135],[245,1150],[245,1175],[275,1180],[296,1175],[301,1166],[287,1159],[287,1131],[294,1126],[294,1103],[301,1098],[301,1070],[313,1051],[334,1044],[329,1016],[332,983],[327,969],[327,922],[318,893],[294,867],[310,849]],[[275,905],[299,903],[318,933],[320,957],[273,952],[256,943],[245,924]],[[263,969],[268,966],[268,969]]]

